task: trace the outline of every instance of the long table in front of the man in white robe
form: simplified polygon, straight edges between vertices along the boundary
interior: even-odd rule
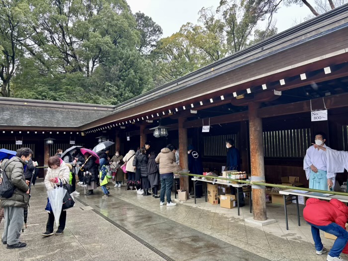
[[[298,196],[304,196],[304,197],[311,197],[311,198],[318,198],[318,199],[324,199],[324,200],[330,200],[332,198],[336,198],[342,202],[348,202],[348,196],[342,196],[342,195],[331,195],[328,197],[325,196],[317,196],[317,195],[311,195],[309,193],[299,193],[294,191],[296,189],[286,189],[286,190],[280,190],[279,194],[283,195],[284,198],[284,210],[285,210],[285,224],[286,224],[286,230],[289,230],[288,225],[288,218],[287,218],[287,208],[286,208],[286,202],[292,201],[296,199],[296,207],[297,207],[297,222],[298,226],[301,226],[300,223],[300,210],[298,205]],[[325,191],[323,191],[323,194],[325,194]]]

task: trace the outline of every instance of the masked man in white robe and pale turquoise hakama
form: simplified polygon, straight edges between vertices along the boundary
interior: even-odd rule
[[[316,145],[329,148],[325,145],[325,141],[324,133],[315,135]],[[309,147],[303,160],[303,169],[306,171],[307,179],[309,179],[309,188],[328,190],[329,187],[335,187],[336,174],[327,170],[327,157],[323,150],[315,148],[315,146]]]

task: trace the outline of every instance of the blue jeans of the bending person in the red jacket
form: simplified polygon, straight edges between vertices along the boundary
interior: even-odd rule
[[[309,222],[312,228],[312,236],[314,240],[315,249],[321,251],[323,249],[322,240],[320,238],[319,230],[323,230],[326,233],[335,235],[337,239],[335,240],[332,249],[329,252],[330,257],[337,258],[341,255],[343,249],[346,247],[348,241],[348,232],[343,227],[337,225],[336,223],[331,223],[327,226],[316,226]]]

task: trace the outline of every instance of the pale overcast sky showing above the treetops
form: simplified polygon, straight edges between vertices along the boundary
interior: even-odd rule
[[[202,7],[219,5],[220,0],[127,0],[132,12],[141,11],[158,23],[163,29],[163,37],[171,36],[179,31],[181,25],[197,23],[198,11]],[[309,2],[312,2],[311,0]],[[299,23],[310,14],[306,6],[282,6],[277,14],[278,32],[284,31]]]

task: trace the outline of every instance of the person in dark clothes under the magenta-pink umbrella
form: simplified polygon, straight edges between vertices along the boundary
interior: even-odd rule
[[[88,193],[86,196],[93,195],[93,190],[96,189],[98,179],[96,164],[99,164],[99,157],[95,152],[88,149],[80,149],[85,156],[85,163],[81,170],[85,172],[85,183],[87,184]]]

